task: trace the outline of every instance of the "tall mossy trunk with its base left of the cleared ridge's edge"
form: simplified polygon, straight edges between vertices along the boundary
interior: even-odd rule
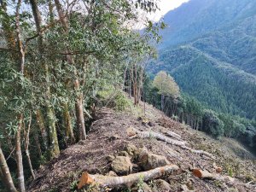
[[[42,16],[39,12],[38,9],[38,3],[37,0],[30,0],[31,6],[32,6],[32,13],[34,16],[34,20],[37,26],[37,32],[40,33],[41,32],[41,26],[42,26]],[[44,53],[44,44],[43,44],[43,37],[42,35],[39,35],[38,38],[38,50],[40,53]],[[45,73],[45,79],[46,79],[46,113],[47,113],[47,117],[48,117],[48,125],[49,125],[49,139],[50,139],[50,154],[51,154],[51,158],[56,157],[57,155],[60,154],[60,148],[59,148],[59,143],[58,143],[58,137],[57,137],[57,132],[56,132],[56,125],[55,125],[55,113],[54,110],[52,108],[52,106],[49,103],[50,97],[51,97],[51,93],[50,93],[50,88],[49,88],[49,67],[47,65],[47,62],[44,61],[43,58],[43,62],[42,62],[43,66],[44,66],[44,73]],[[46,133],[46,131],[44,131],[44,134]],[[47,141],[47,137],[44,136],[44,147],[46,147],[46,149],[48,148],[48,145],[46,144]]]

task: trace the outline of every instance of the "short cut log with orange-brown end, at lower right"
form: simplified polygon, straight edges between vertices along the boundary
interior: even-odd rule
[[[234,183],[235,182],[235,178],[230,177],[230,176],[222,176],[220,174],[213,174],[211,172],[207,172],[207,171],[202,171],[201,169],[194,169],[193,174],[195,175],[195,177],[199,177],[201,179],[212,179],[212,180],[218,180],[218,181],[223,181],[226,183]]]

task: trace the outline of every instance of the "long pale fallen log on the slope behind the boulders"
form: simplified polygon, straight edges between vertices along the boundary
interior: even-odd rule
[[[208,152],[206,152],[206,151],[203,151],[203,150],[195,150],[195,149],[193,149],[193,148],[187,147],[187,146],[185,145],[186,142],[184,142],[184,141],[177,141],[177,140],[171,139],[171,138],[169,138],[169,137],[166,137],[166,136],[163,135],[163,134],[160,134],[160,133],[157,133],[157,132],[154,132],[154,131],[137,131],[137,130],[134,129],[134,128],[132,128],[132,131],[131,131],[131,128],[129,128],[129,129],[130,129],[130,130],[129,130],[130,133],[133,131],[134,134],[137,134],[137,135],[135,135],[135,136],[138,136],[138,137],[141,137],[141,138],[151,138],[151,137],[153,137],[153,138],[159,139],[159,140],[161,140],[161,141],[164,141],[164,142],[166,142],[166,143],[169,143],[169,144],[172,144],[172,145],[177,145],[177,146],[179,146],[179,147],[181,147],[181,148],[183,148],[183,149],[187,149],[187,150],[189,150],[189,151],[192,152],[192,153],[195,153],[195,154],[205,154],[205,155],[207,155],[208,157],[210,157],[210,158],[212,158],[212,159],[215,159],[215,157],[214,157],[212,154],[210,154],[210,153],[208,153]],[[127,132],[128,132],[128,131],[127,131]],[[131,135],[129,135],[129,136],[131,136]],[[131,136],[131,137],[133,137],[133,136]]]

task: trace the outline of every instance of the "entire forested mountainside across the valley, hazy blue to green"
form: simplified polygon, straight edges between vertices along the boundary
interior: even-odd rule
[[[218,112],[256,118],[256,1],[191,0],[165,16],[158,61],[181,89]]]

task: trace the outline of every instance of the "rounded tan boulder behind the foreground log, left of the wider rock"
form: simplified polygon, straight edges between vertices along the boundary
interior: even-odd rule
[[[127,175],[132,171],[132,164],[129,157],[117,156],[111,163],[113,172],[118,175]]]

